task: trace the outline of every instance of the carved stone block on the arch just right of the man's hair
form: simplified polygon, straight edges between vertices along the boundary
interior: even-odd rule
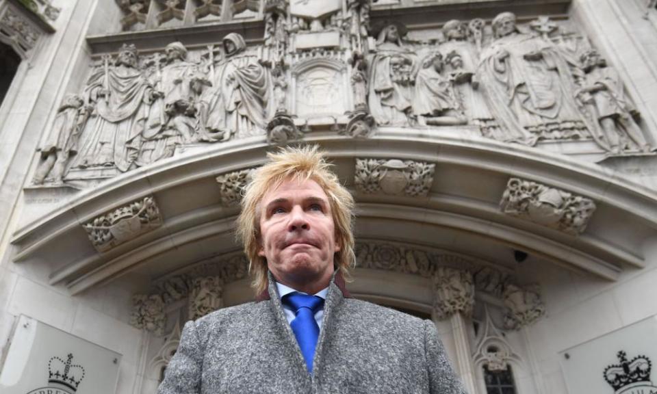
[[[366,194],[425,197],[433,184],[435,164],[398,159],[356,159],[355,185]]]

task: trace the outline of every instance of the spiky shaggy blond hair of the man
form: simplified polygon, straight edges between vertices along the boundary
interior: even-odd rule
[[[335,242],[340,250],[335,252],[335,269],[349,278],[350,267],[355,263],[353,210],[354,198],[339,183],[337,176],[329,170],[324,154],[317,145],[300,148],[280,148],[268,153],[270,161],[254,170],[251,180],[244,188],[242,212],[237,218],[237,238],[244,243],[248,258],[248,272],[253,276],[251,287],[256,294],[267,288],[267,260],[258,255],[260,246],[260,204],[267,192],[279,187],[283,181],[299,182],[312,180],[318,183],[329,198],[329,207],[335,227]]]

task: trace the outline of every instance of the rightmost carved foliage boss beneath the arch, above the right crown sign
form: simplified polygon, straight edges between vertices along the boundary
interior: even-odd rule
[[[508,329],[518,330],[545,315],[545,305],[538,291],[506,285],[502,300],[507,308],[504,326]]]

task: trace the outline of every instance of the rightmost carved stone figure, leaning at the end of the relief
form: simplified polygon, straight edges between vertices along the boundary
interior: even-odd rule
[[[626,97],[616,70],[608,67],[595,49],[582,53],[580,61],[585,74],[576,96],[598,126],[592,133],[596,142],[616,154],[649,152],[651,146],[634,120],[639,117],[639,111]]]

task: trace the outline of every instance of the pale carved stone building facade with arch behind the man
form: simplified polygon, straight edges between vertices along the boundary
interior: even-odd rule
[[[0,360],[28,315],[155,393],[253,298],[250,173],[319,144],[357,298],[433,318],[472,393],[569,393],[567,349],[657,313],[653,3],[0,0]]]

